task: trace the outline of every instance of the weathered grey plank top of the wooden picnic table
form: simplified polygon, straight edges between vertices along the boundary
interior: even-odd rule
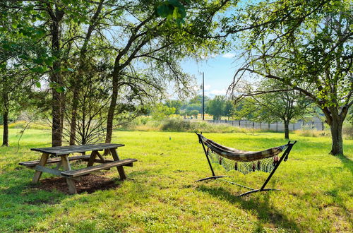
[[[31,148],[30,150],[39,151],[41,153],[48,153],[52,155],[68,155],[72,153],[82,153],[90,150],[119,148],[121,146],[124,146],[124,144],[100,143],[90,145],[54,146],[51,148]]]

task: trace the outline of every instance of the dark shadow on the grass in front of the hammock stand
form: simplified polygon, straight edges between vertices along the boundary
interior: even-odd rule
[[[243,210],[254,210],[258,215],[258,227],[256,231],[262,232],[264,229],[261,226],[261,222],[270,223],[275,225],[275,227],[281,227],[288,229],[290,231],[301,232],[301,229],[296,222],[289,220],[286,215],[280,213],[279,210],[276,210],[269,202],[268,192],[263,192],[261,195],[263,198],[257,196],[246,196],[238,197],[234,196],[232,193],[227,191],[222,187],[210,188],[208,186],[201,185],[198,187],[199,191],[209,193],[220,200],[228,201],[229,203],[237,203],[241,206]]]

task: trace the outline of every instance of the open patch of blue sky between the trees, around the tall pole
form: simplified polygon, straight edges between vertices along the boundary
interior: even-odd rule
[[[202,84],[202,72],[205,73],[205,95],[208,97],[226,94],[238,66],[234,52],[218,54],[208,60],[196,62],[188,59],[181,63],[184,71],[194,76],[199,86]]]

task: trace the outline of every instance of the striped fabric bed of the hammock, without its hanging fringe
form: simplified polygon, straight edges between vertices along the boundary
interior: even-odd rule
[[[215,143],[214,141],[205,138],[202,134],[198,134],[203,141],[203,143],[214,153],[222,157],[226,157],[229,160],[241,161],[241,162],[251,162],[256,160],[263,160],[268,157],[273,157],[281,153],[285,148],[287,148],[288,144],[280,145],[275,148],[270,148],[267,150],[261,151],[247,151],[247,150],[237,150],[234,148],[229,148],[224,145],[220,145]]]

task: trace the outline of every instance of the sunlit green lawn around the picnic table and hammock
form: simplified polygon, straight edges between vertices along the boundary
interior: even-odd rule
[[[100,172],[119,187],[70,196],[40,191],[30,184],[33,170],[18,165],[39,159],[30,148],[49,146],[50,132],[26,131],[19,149],[16,132],[10,131],[12,147],[0,148],[0,232],[353,231],[352,140],[345,141],[346,157],[334,157],[328,155],[330,138],[291,135],[298,143],[268,183],[282,191],[238,198],[246,189],[225,181],[195,182],[210,175],[195,133],[119,131],[113,142],[126,145],[120,157],[138,159],[126,167],[128,179],[119,181],[116,169]],[[287,142],[282,133],[205,136],[244,150]],[[259,187],[268,176],[214,167],[216,174],[230,174],[229,180],[247,186]]]

